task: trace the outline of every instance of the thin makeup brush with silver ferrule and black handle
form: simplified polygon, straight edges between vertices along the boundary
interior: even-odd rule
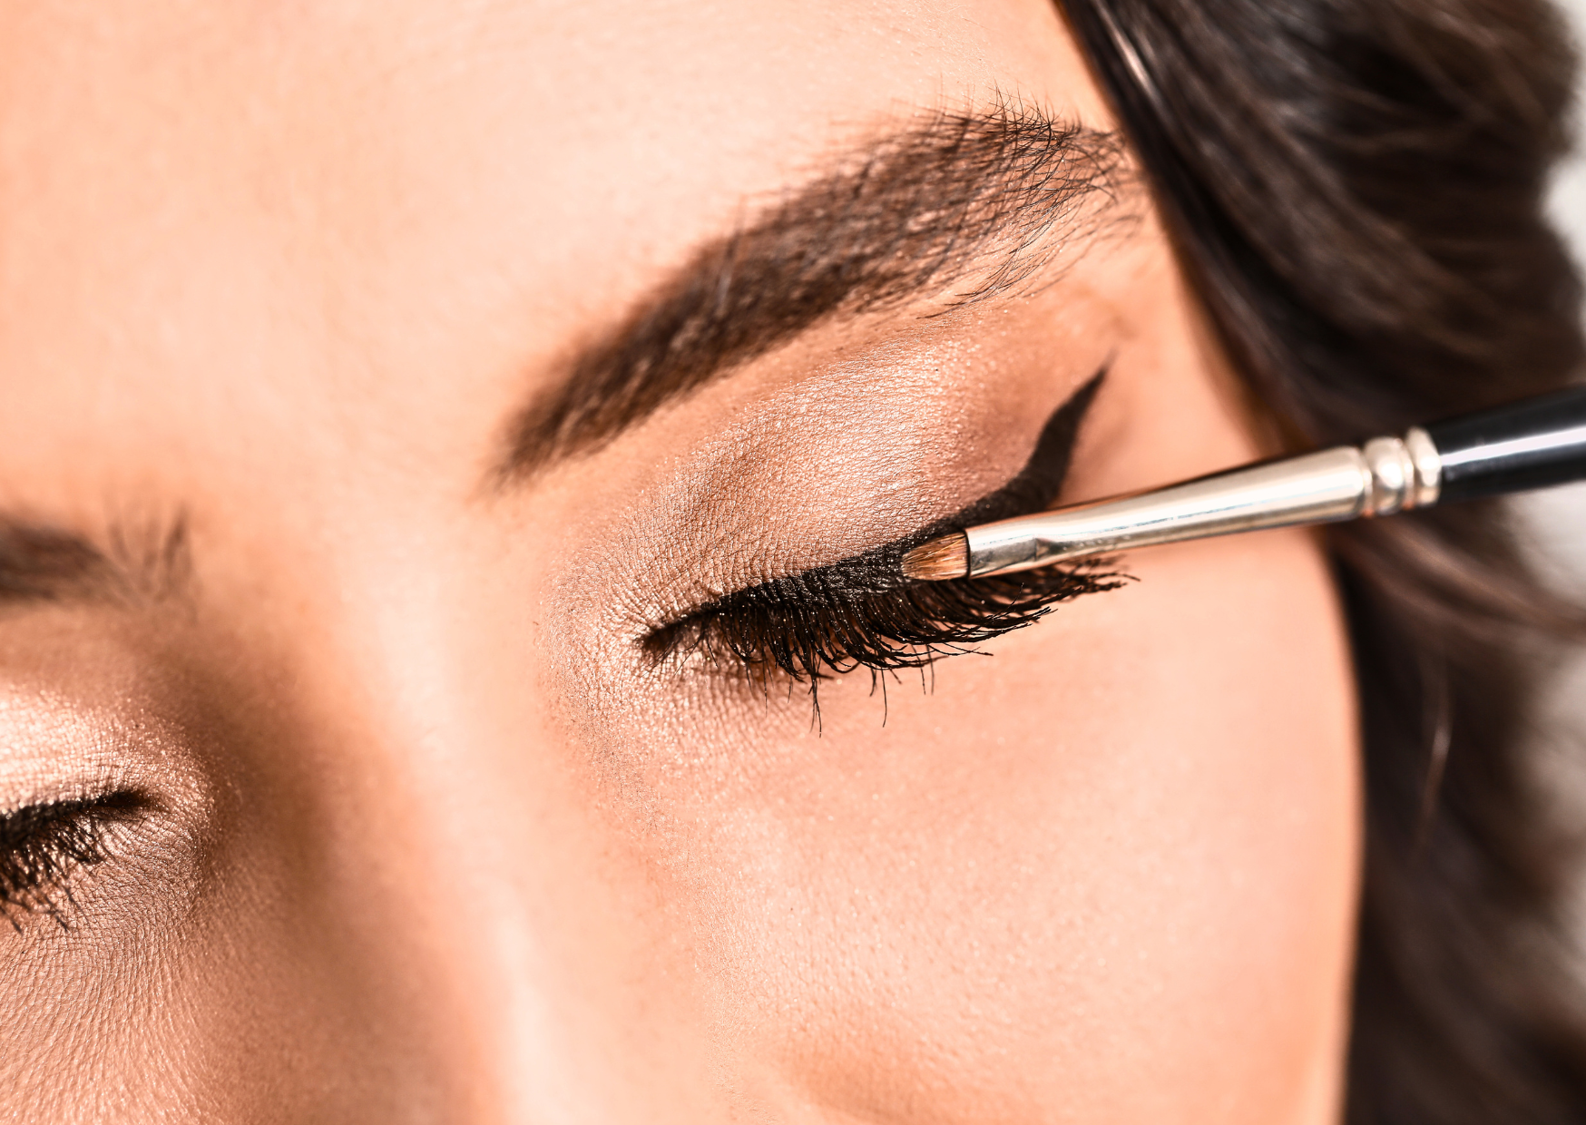
[[[1331,524],[1586,479],[1586,387],[1164,489],[953,532],[902,557],[921,581],[982,578],[1158,543]]]

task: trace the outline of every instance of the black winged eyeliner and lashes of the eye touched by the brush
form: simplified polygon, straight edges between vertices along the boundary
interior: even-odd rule
[[[714,598],[646,635],[644,654],[657,665],[699,662],[761,689],[774,678],[806,682],[815,693],[822,679],[860,668],[880,678],[972,652],[1063,601],[1118,589],[1126,576],[1109,571],[1107,560],[952,582],[914,582],[899,571],[907,551],[950,528],[1052,506],[1104,376],[1052,414],[1029,460],[996,492],[852,559]]]

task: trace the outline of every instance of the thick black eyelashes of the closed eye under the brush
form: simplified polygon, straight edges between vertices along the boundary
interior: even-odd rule
[[[807,682],[866,668],[872,681],[926,668],[1023,628],[1085,593],[1115,590],[1128,574],[1112,560],[1047,566],[998,578],[909,582],[901,549],[885,559],[779,578],[728,593],[644,638],[655,663],[682,658],[734,671],[761,689],[774,678]],[[871,581],[855,581],[855,574]]]

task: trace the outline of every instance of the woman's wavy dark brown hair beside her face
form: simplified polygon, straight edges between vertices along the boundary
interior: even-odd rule
[[[1064,6],[1209,321],[1294,447],[1576,376],[1578,286],[1542,214],[1573,78],[1551,6]],[[1586,1122],[1569,849],[1524,757],[1543,641],[1581,636],[1581,614],[1527,573],[1499,505],[1329,543],[1366,755],[1348,1122]]]

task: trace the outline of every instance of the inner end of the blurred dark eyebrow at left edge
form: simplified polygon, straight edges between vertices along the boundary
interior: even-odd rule
[[[159,601],[187,589],[187,524],[113,527],[103,544],[79,532],[0,514],[0,608]]]

